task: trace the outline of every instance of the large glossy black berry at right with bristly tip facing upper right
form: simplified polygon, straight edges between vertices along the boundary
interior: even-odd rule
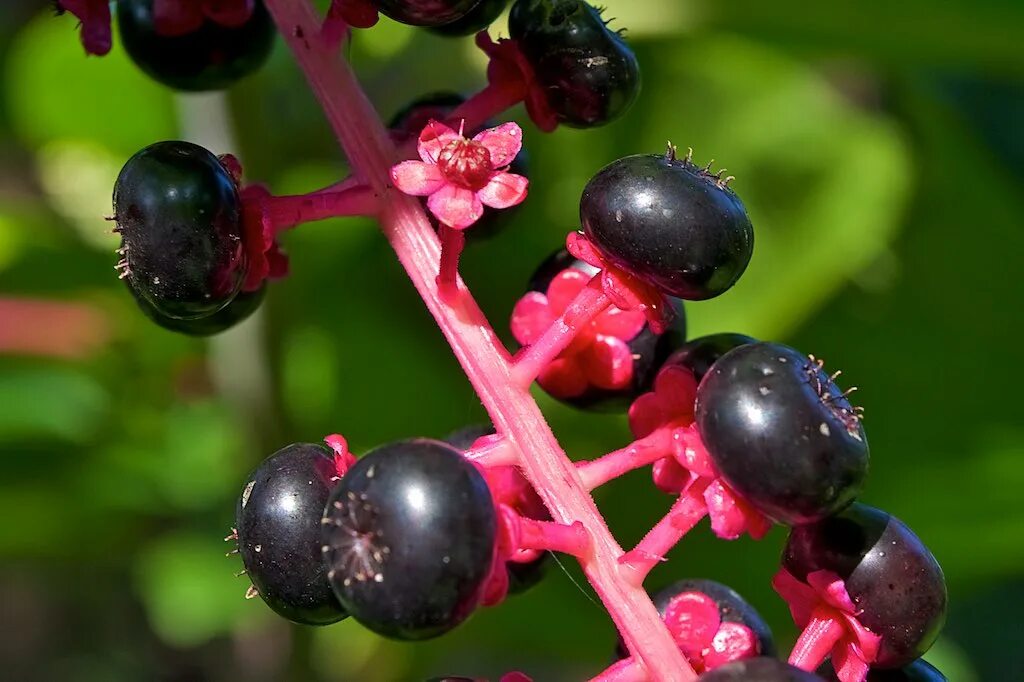
[[[697,388],[696,423],[722,477],[781,523],[836,513],[867,475],[859,413],[820,363],[788,346],[720,357]]]

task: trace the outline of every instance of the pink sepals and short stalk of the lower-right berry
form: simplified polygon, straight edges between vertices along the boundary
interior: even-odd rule
[[[790,605],[797,627],[803,628],[790,664],[813,672],[830,655],[840,682],[864,682],[882,638],[857,620],[859,611],[843,579],[815,570],[802,583],[780,568],[772,587]]]

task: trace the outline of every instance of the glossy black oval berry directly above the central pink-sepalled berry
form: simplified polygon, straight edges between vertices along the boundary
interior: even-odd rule
[[[736,283],[754,228],[723,180],[675,154],[620,159],[583,190],[584,232],[605,258],[666,294],[713,298]]]

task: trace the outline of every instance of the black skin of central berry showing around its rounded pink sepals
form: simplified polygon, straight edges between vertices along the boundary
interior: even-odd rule
[[[579,270],[588,276],[592,276],[598,271],[593,265],[574,258],[567,251],[561,249],[541,263],[529,280],[528,290],[547,292],[552,281],[568,268]],[[555,386],[546,384],[544,375],[542,375],[541,387],[552,397],[574,408],[600,412],[622,411],[638,395],[650,390],[658,369],[686,340],[686,312],[683,309],[682,301],[672,299],[670,303],[673,318],[666,331],[655,334],[644,323],[636,336],[631,339],[623,339],[629,346],[629,361],[633,365],[632,379],[627,385],[620,388],[602,388],[593,382],[588,382],[587,388],[583,392],[567,394]],[[603,325],[603,317],[599,316],[594,323],[594,331],[598,334],[607,333]],[[595,361],[593,357],[580,356],[581,371],[586,370],[587,368],[584,366],[589,367],[593,361]]]

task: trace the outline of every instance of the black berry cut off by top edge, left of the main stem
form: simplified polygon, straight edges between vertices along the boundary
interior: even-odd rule
[[[162,35],[155,0],[118,0],[121,42],[139,69],[178,90],[218,90],[258,69],[270,54],[275,30],[262,0],[238,27],[206,18],[182,35]]]

